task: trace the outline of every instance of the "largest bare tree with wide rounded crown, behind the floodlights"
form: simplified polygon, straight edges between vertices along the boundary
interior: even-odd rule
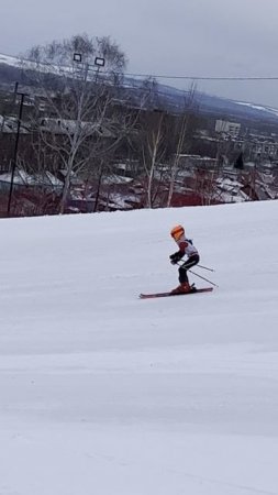
[[[126,59],[109,37],[90,38],[86,34],[35,46],[26,57],[26,74],[47,109],[47,117],[36,122],[37,134],[65,169],[63,213],[73,173],[92,163],[98,150],[103,148],[104,133],[110,138],[109,146],[116,141],[111,107]],[[104,70],[96,66],[96,59],[104,64]]]

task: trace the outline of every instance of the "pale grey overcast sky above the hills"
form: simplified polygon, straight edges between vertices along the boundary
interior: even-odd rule
[[[118,42],[132,73],[278,76],[277,20],[278,0],[1,0],[0,53],[87,32]],[[278,108],[278,80],[197,88]]]

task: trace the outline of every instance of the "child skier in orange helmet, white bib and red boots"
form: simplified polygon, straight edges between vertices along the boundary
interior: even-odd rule
[[[186,239],[185,229],[182,226],[174,227],[170,234],[179,248],[179,251],[169,256],[171,264],[176,265],[185,255],[188,257],[187,261],[179,267],[180,285],[171,290],[171,294],[190,293],[191,286],[188,282],[187,271],[199,263],[199,253],[192,244],[192,241]]]

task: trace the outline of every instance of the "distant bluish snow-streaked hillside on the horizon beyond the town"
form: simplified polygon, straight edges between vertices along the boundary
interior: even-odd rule
[[[14,81],[24,85],[24,73],[21,68],[19,58],[0,54],[0,88],[11,89]],[[140,89],[142,88],[142,79],[126,78],[126,89],[129,86]],[[155,96],[159,100],[159,105],[165,105],[168,109],[179,111],[184,106],[185,91],[171,86],[157,84]],[[205,114],[221,116],[226,119],[264,121],[273,124],[278,123],[278,109],[259,106],[252,102],[234,101],[226,98],[210,96],[204,92],[196,91],[196,105],[199,111]]]

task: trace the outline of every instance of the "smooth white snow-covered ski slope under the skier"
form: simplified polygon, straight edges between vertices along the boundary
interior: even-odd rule
[[[277,219],[1,220],[0,494],[278,494]],[[140,300],[177,285],[176,223],[219,288]]]

